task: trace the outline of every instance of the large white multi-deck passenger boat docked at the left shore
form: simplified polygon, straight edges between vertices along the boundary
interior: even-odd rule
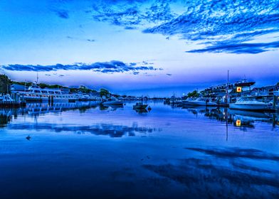
[[[27,91],[19,92],[19,95],[26,101],[53,101],[69,102],[78,100],[78,95],[63,94],[60,89],[41,88],[39,85],[31,85]]]

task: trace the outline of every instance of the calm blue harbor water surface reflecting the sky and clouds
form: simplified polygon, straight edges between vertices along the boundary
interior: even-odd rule
[[[0,198],[279,198],[278,114],[96,102],[0,110]]]

